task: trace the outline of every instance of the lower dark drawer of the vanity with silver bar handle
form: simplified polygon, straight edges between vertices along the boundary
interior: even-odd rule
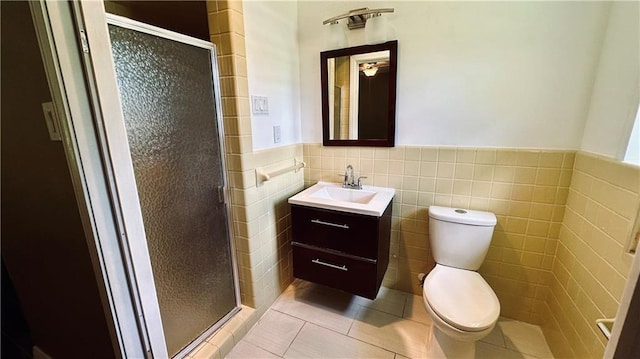
[[[293,275],[296,278],[342,289],[367,298],[375,298],[378,265],[373,260],[361,260],[293,243]],[[384,274],[384,273],[383,273]]]

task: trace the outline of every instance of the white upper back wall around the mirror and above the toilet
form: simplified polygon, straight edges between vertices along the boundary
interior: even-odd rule
[[[364,6],[395,8],[397,144],[580,148],[608,3],[301,1],[304,142],[322,141],[322,21]]]

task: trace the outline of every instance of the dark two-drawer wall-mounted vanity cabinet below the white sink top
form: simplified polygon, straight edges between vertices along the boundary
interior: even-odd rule
[[[374,299],[389,264],[392,203],[380,217],[292,205],[294,277]]]

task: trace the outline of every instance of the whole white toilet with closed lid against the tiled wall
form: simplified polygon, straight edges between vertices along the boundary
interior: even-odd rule
[[[433,357],[472,358],[487,336],[500,302],[476,271],[489,250],[496,216],[490,212],[429,207],[429,241],[436,266],[424,280],[422,297],[434,323]]]

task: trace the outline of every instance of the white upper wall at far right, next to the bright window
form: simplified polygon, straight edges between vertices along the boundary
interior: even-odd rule
[[[621,160],[640,103],[640,5],[611,7],[581,149]]]

